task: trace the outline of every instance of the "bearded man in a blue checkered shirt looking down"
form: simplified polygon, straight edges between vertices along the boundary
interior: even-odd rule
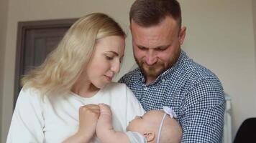
[[[129,13],[134,58],[139,68],[127,84],[142,107],[173,108],[183,127],[182,142],[221,142],[224,91],[219,79],[188,59],[180,45],[186,36],[175,0],[136,0]]]

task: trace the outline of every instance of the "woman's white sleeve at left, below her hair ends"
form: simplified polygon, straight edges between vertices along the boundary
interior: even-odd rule
[[[32,89],[22,89],[12,116],[7,143],[45,142],[41,100]]]

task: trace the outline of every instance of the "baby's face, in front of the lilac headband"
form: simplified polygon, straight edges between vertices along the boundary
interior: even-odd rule
[[[155,126],[160,125],[161,119],[163,117],[163,112],[157,110],[151,110],[145,113],[142,117],[137,116],[129,122],[127,131],[140,132],[143,134],[149,129],[155,130]]]

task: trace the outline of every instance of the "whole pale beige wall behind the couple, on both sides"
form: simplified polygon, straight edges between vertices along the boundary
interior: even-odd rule
[[[9,0],[4,74],[0,71],[0,78],[4,75],[1,142],[5,142],[12,118],[17,21],[76,18],[101,11],[113,16],[129,31],[131,4],[132,1],[119,0]],[[180,0],[180,4],[183,24],[188,26],[183,49],[195,61],[214,71],[225,92],[232,97],[234,134],[244,119],[256,117],[252,0]],[[130,40],[129,35],[123,69],[116,79],[134,64]]]

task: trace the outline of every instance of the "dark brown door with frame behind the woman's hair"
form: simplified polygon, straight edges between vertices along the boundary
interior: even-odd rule
[[[39,66],[58,45],[77,19],[25,21],[18,24],[14,81],[14,107],[22,89],[21,79],[27,71]]]

